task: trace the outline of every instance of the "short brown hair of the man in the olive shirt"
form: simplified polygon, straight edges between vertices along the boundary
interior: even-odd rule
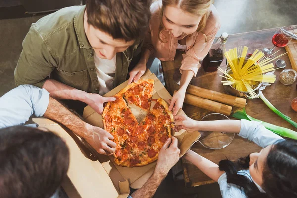
[[[114,39],[138,40],[147,31],[151,0],[87,0],[88,23]]]

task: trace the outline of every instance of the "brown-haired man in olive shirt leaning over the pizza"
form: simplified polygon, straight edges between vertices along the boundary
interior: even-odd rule
[[[87,0],[86,6],[67,7],[41,18],[23,41],[15,83],[44,88],[55,99],[78,100],[101,114],[104,102],[115,98],[99,95],[99,85],[105,82],[95,56],[102,71],[114,69],[112,74],[100,70],[113,87],[123,83],[132,58],[141,51],[149,5],[150,0]],[[108,68],[111,61],[114,65]],[[143,73],[139,69],[130,78],[137,80]]]

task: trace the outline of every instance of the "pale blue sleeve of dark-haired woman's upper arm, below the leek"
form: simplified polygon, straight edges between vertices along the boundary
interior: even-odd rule
[[[278,140],[284,140],[279,135],[266,129],[261,123],[248,120],[241,120],[241,128],[238,135],[253,141],[262,148],[272,145]]]

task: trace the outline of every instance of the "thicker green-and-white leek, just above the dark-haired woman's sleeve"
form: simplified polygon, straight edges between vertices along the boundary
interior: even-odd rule
[[[245,120],[249,120],[249,121],[260,122],[266,129],[272,131],[275,134],[297,140],[297,132],[295,132],[291,129],[287,129],[285,127],[280,127],[280,126],[276,126],[276,125],[273,125],[273,124],[270,124],[267,122],[263,122],[261,120],[257,120],[255,118],[247,115],[245,108],[242,111],[237,111],[237,112],[233,113],[232,117],[235,117],[237,119],[245,119]]]

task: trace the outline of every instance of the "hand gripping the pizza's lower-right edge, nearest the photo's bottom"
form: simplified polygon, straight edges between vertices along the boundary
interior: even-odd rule
[[[179,160],[180,149],[177,148],[177,139],[174,136],[171,138],[167,139],[159,152],[155,173],[167,175],[169,170]]]

